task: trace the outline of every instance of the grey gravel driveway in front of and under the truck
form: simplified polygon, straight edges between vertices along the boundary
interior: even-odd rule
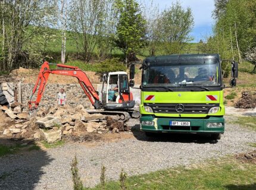
[[[138,127],[134,126],[135,138],[115,143],[96,147],[67,143],[47,151],[0,157],[0,189],[72,189],[70,162],[75,154],[82,180],[93,186],[99,182],[101,164],[107,167],[111,180],[118,179],[121,168],[129,175],[147,173],[253,150],[247,143],[256,143],[255,131],[233,124],[226,124],[226,132],[217,144],[191,135],[146,138]]]

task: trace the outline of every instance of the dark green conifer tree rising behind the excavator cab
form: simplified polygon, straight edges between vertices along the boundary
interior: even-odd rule
[[[115,43],[123,51],[127,65],[127,57],[145,45],[146,20],[135,0],[116,0],[115,7],[118,17]]]

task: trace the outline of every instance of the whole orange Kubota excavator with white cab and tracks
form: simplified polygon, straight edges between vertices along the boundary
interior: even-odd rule
[[[50,69],[49,65],[57,65],[58,68],[63,69]],[[63,65],[63,64],[50,64],[44,62],[40,68],[38,80],[36,80],[35,87],[33,88],[32,96],[29,100],[29,110],[37,110],[40,100],[43,96],[46,83],[48,81],[49,74],[66,75],[76,77],[81,85],[86,96],[89,98],[95,109],[88,109],[88,113],[102,113],[104,115],[119,115],[121,120],[126,121],[132,116],[133,118],[139,118],[140,114],[134,110],[135,100],[133,100],[133,94],[130,92],[129,86],[134,85],[134,81],[130,80],[128,83],[128,77],[126,72],[110,72],[103,75],[102,83],[102,98],[99,99],[99,92],[95,90],[89,78],[80,68],[77,66]],[[39,86],[39,87],[38,87]],[[113,86],[117,87],[112,94]],[[32,101],[33,95],[38,90],[36,100]]]

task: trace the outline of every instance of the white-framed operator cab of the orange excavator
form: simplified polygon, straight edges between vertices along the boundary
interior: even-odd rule
[[[126,72],[109,72],[102,79],[102,105],[104,109],[132,109],[135,106]]]

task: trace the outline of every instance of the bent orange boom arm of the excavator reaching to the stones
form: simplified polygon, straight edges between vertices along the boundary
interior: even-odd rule
[[[83,91],[85,92],[86,96],[88,96],[90,103],[92,103],[95,109],[100,109],[102,107],[102,103],[99,101],[98,92],[95,90],[92,83],[90,83],[90,80],[85,74],[85,72],[83,72],[77,66],[52,64],[65,69],[50,69],[49,65],[50,64],[47,61],[45,61],[40,68],[38,80],[36,80],[36,84],[35,84],[35,87],[33,88],[32,96],[30,97],[30,100],[29,100],[30,110],[38,108],[40,100],[42,99],[42,96],[43,96],[43,92],[45,91],[45,86],[48,81],[49,74],[76,77]],[[38,93],[37,93],[38,95],[36,97],[36,100],[32,101],[33,95],[36,93],[37,89],[38,89]]]

